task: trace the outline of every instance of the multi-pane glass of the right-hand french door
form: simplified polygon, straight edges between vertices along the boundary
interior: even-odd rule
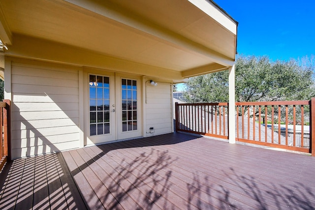
[[[136,80],[122,79],[122,109],[123,132],[137,130]]]

